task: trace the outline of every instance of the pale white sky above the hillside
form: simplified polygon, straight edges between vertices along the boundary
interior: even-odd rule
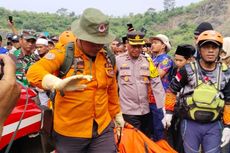
[[[176,6],[186,6],[199,1],[201,0],[176,0]],[[77,15],[88,7],[94,7],[107,15],[124,16],[129,13],[144,13],[148,8],[163,10],[163,0],[1,0],[0,7],[50,13],[66,8]]]

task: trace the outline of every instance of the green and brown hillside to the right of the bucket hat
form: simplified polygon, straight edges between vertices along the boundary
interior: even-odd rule
[[[136,29],[144,26],[147,29],[147,37],[165,34],[170,38],[174,51],[178,44],[194,44],[193,32],[197,25],[204,21],[210,22],[223,36],[230,36],[229,13],[230,0],[203,0],[168,12],[155,12],[150,8],[144,14],[112,19],[112,25],[120,26],[122,29],[127,22],[131,22]],[[119,22],[115,22],[116,20]],[[126,29],[122,32],[125,31]]]

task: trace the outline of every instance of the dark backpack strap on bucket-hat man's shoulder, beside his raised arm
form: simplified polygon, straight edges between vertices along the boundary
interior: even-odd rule
[[[66,45],[66,53],[65,53],[64,62],[59,69],[59,74],[58,74],[59,78],[64,77],[67,74],[67,72],[69,71],[69,69],[71,68],[71,66],[73,64],[73,60],[74,60],[74,50],[75,50],[74,49],[74,42],[69,42]]]

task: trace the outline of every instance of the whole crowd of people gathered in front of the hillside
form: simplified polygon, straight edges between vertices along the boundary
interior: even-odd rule
[[[181,42],[173,56],[167,35],[147,39],[129,24],[127,35],[116,38],[108,17],[94,8],[86,9],[71,31],[51,39],[30,30],[18,34],[9,26],[13,33],[5,47],[0,37],[3,78],[14,76],[10,56],[17,81],[38,92],[40,105],[53,104],[58,153],[116,152],[113,129],[126,122],[180,153],[230,152],[230,37],[210,23],[199,24],[194,44]],[[59,77],[63,65],[68,68]],[[55,102],[49,97],[53,91]],[[4,120],[5,107],[0,102]]]

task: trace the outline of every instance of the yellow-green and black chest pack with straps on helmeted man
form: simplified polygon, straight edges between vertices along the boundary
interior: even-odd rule
[[[217,82],[204,82],[199,79],[196,62],[190,63],[195,74],[196,84],[194,92],[186,98],[188,117],[199,122],[212,122],[219,118],[224,107],[224,100],[220,92],[221,72],[226,68],[218,63]]]

